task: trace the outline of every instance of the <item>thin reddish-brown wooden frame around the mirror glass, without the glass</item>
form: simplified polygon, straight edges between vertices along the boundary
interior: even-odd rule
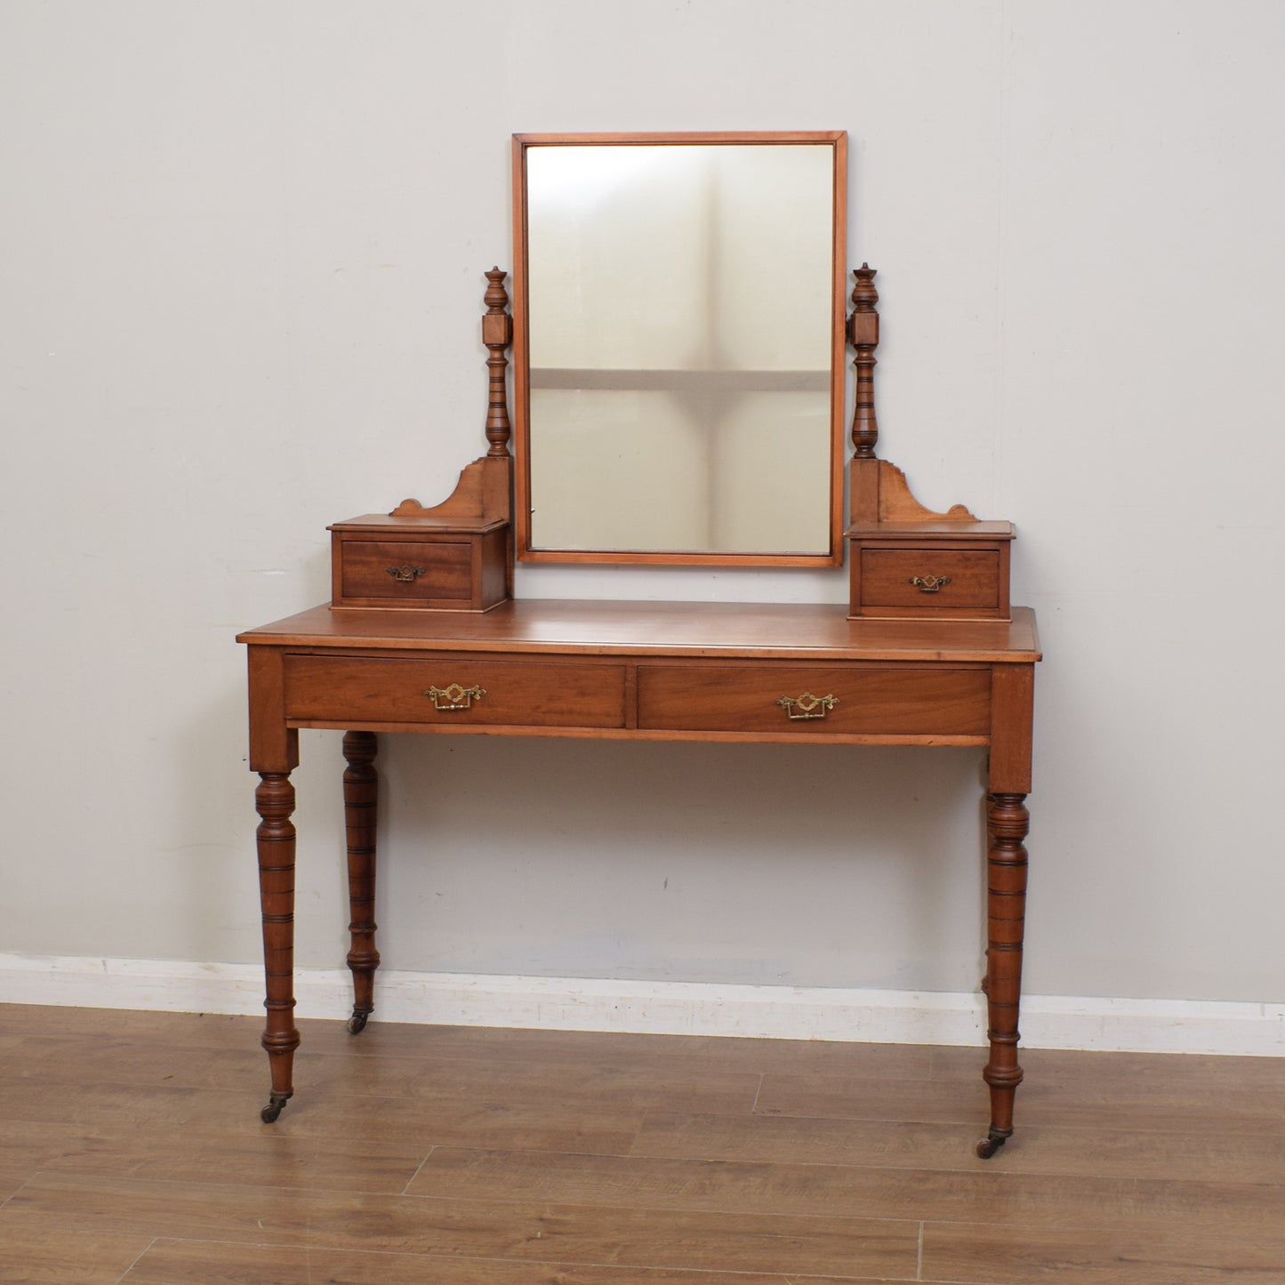
[[[830,483],[829,549],[824,553],[702,553],[651,550],[587,550],[532,547],[531,532],[531,382],[527,265],[527,149],[531,146],[603,146],[655,144],[824,144],[833,148],[831,283],[830,283]],[[517,556],[529,563],[610,563],[700,567],[838,567],[843,563],[843,461],[846,450],[846,254],[847,134],[843,130],[793,132],[684,134],[515,134],[513,136],[513,391]]]

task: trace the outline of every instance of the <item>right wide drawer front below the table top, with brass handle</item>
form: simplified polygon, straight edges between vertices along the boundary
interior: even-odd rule
[[[640,666],[639,727],[984,736],[988,669]]]

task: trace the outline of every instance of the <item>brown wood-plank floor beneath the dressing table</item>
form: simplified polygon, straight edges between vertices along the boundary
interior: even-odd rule
[[[0,1005],[0,1280],[1285,1282],[1285,1060]]]

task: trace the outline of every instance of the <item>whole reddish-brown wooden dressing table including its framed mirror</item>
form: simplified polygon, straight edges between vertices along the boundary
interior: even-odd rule
[[[442,504],[407,500],[391,513],[337,523],[330,528],[332,601],[239,637],[248,646],[251,768],[261,777],[256,804],[267,989],[262,1042],[271,1072],[265,1122],[275,1121],[293,1094],[299,1036],[293,1019],[290,772],[299,761],[298,729],[317,727],[346,732],[347,961],[355,989],[348,1028],[355,1036],[374,1011],[379,966],[374,916],[380,734],[802,743],[834,745],[835,752],[844,745],[986,747],[983,991],[989,1058],[982,1074],[989,1086],[991,1124],[978,1154],[992,1155],[1011,1135],[1022,1079],[1016,1043],[1024,802],[1038,640],[1029,609],[1009,604],[1013,528],[979,522],[960,506],[930,513],[914,499],[902,473],[875,456],[878,294],[874,271],[858,269],[853,311],[847,314],[844,144],[839,132],[515,136],[511,316],[506,274],[486,274],[487,455],[464,470]],[[585,227],[564,235],[563,221],[574,217],[568,191],[589,190],[582,204],[590,211],[601,212],[613,202],[634,208],[637,198],[627,177],[641,171],[649,202],[662,216],[678,218],[684,209],[699,215],[699,236],[676,234],[673,226],[662,230],[664,257],[673,257],[675,245],[703,236],[703,280],[735,280],[745,261],[729,262],[722,247],[748,234],[738,226],[720,229],[711,239],[711,211],[744,206],[744,167],[761,163],[770,172],[762,204],[775,206],[792,231],[802,217],[793,195],[781,202],[771,193],[803,189],[819,198],[820,233],[813,226],[798,238],[803,260],[811,256],[824,275],[819,294],[798,305],[815,310],[820,299],[822,320],[811,326],[810,351],[792,348],[786,337],[775,351],[752,355],[757,364],[740,360],[744,353],[722,337],[735,329],[727,317],[747,305],[743,294],[716,301],[698,321],[684,311],[684,320],[654,326],[650,337],[644,321],[636,328],[646,341],[641,360],[636,353],[622,359],[614,337],[604,338],[609,328],[600,319],[581,324],[577,317],[560,335],[544,338],[542,328],[567,312],[568,299],[580,310],[585,298],[610,293],[586,290],[589,269],[555,262],[565,244],[591,240]],[[659,171],[673,166],[678,176],[658,186]],[[594,188],[600,176],[607,176],[607,186]],[[547,199],[546,189],[553,193]],[[635,226],[627,230],[631,239],[640,235]],[[598,227],[592,235],[599,235]],[[762,227],[757,235],[761,249]],[[596,256],[592,245],[585,258],[609,260]],[[792,316],[793,285],[777,281],[771,289],[777,293],[768,293],[766,302]],[[613,298],[609,315],[627,302]],[[568,339],[568,329],[580,339]],[[678,360],[672,329],[686,332]],[[790,323],[786,329],[803,332],[808,325]],[[857,379],[851,518],[843,526],[846,343],[856,352]],[[510,347],[515,433],[506,396]],[[693,357],[698,350],[700,356]],[[779,452],[776,463],[768,455],[766,465],[774,484],[765,488],[761,478],[750,478],[748,499],[732,493],[725,483],[743,470],[730,456],[748,450],[747,443],[763,437],[762,425],[775,419],[804,442],[806,459],[822,461],[812,470],[820,478],[810,487],[802,477],[797,486],[793,477],[783,477],[780,460],[790,457],[792,446],[777,442],[767,447]],[[619,423],[634,425],[631,442],[669,438],[680,455],[640,463],[619,438],[605,447],[600,441],[583,445],[587,428]],[[711,445],[716,437],[721,441]],[[603,473],[577,472],[580,451],[608,470],[613,455],[626,455],[622,473],[644,478],[639,499],[595,508],[585,488],[600,487]],[[699,484],[686,486],[693,473]],[[673,487],[657,490],[655,479]],[[657,526],[653,510],[678,508],[675,490],[699,495],[699,523],[680,515]],[[799,493],[797,502],[790,500],[794,509],[768,513],[781,492]],[[578,496],[594,510],[585,529],[572,520]],[[765,515],[762,545],[756,524],[745,520],[756,509]],[[708,517],[716,510],[717,520]],[[820,520],[813,520],[817,510]],[[617,513],[625,519],[613,527]],[[515,556],[837,568],[846,554],[848,607],[513,598]]]

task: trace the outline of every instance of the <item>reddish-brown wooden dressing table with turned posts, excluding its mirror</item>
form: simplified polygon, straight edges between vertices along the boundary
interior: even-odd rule
[[[582,136],[576,136],[582,137]],[[595,141],[603,136],[595,136]],[[691,137],[691,136],[684,136]],[[801,136],[790,136],[801,137]],[[842,135],[825,136],[842,162]],[[533,144],[518,136],[515,155]],[[835,143],[835,140],[839,140]],[[837,167],[842,177],[842,164]],[[520,179],[518,180],[520,184]],[[839,181],[834,222],[844,221]],[[1033,614],[1010,608],[1007,523],[961,508],[930,513],[901,472],[875,459],[874,271],[857,270],[844,337],[856,350],[849,463],[851,603],[518,601],[505,351],[526,351],[519,243],[514,317],[505,274],[487,274],[487,456],[434,508],[333,528],[330,604],[239,636],[248,646],[251,770],[260,815],[272,1122],[293,1094],[296,831],[290,772],[298,729],[346,732],[351,942],[356,1036],[374,1011],[375,771],[382,732],[574,736],[603,740],[843,745],[980,745],[987,770],[987,971],[992,1155],[1013,1132],[1027,885],[1032,698],[1040,648]],[[842,253],[842,231],[835,256]],[[518,334],[513,323],[517,321]],[[518,493],[529,370],[519,361]],[[842,371],[839,407],[842,415]],[[520,511],[519,511],[520,518]],[[518,523],[518,547],[527,547]],[[831,564],[843,556],[839,545]],[[619,560],[590,555],[582,560]],[[640,560],[658,562],[660,558]],[[721,560],[717,555],[712,560]],[[735,559],[726,559],[735,560]]]

